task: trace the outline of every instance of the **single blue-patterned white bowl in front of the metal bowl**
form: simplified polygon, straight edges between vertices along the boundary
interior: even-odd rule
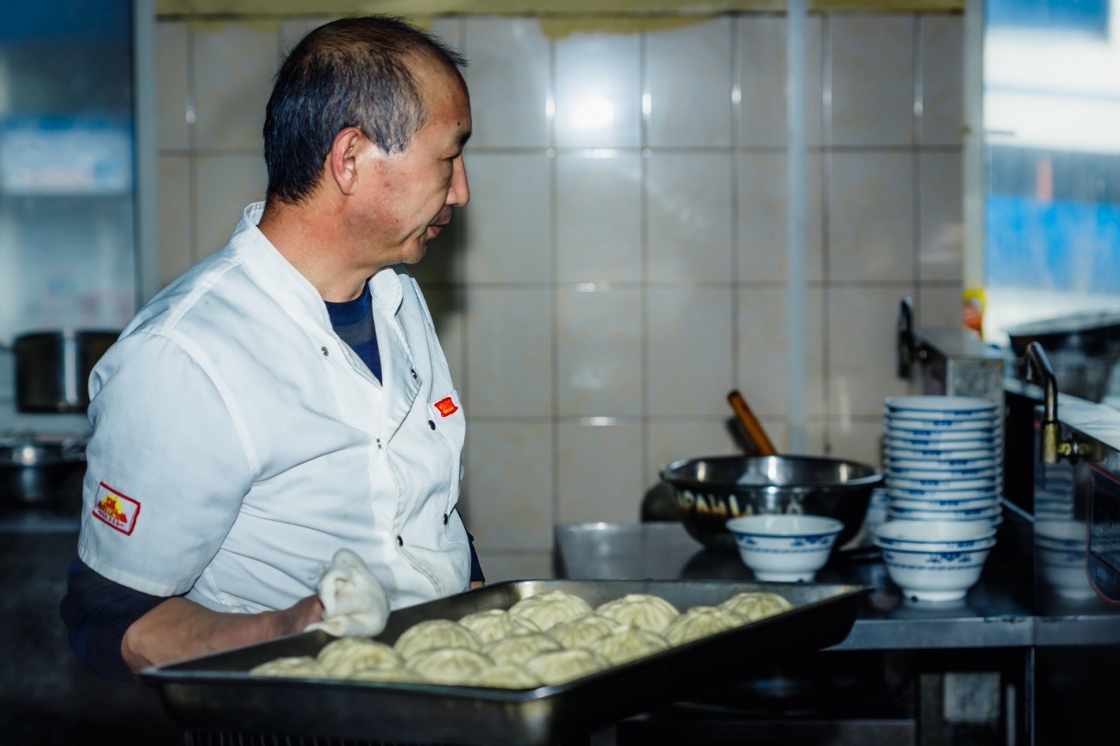
[[[745,515],[727,522],[758,580],[810,582],[829,561],[843,523],[823,515]]]

